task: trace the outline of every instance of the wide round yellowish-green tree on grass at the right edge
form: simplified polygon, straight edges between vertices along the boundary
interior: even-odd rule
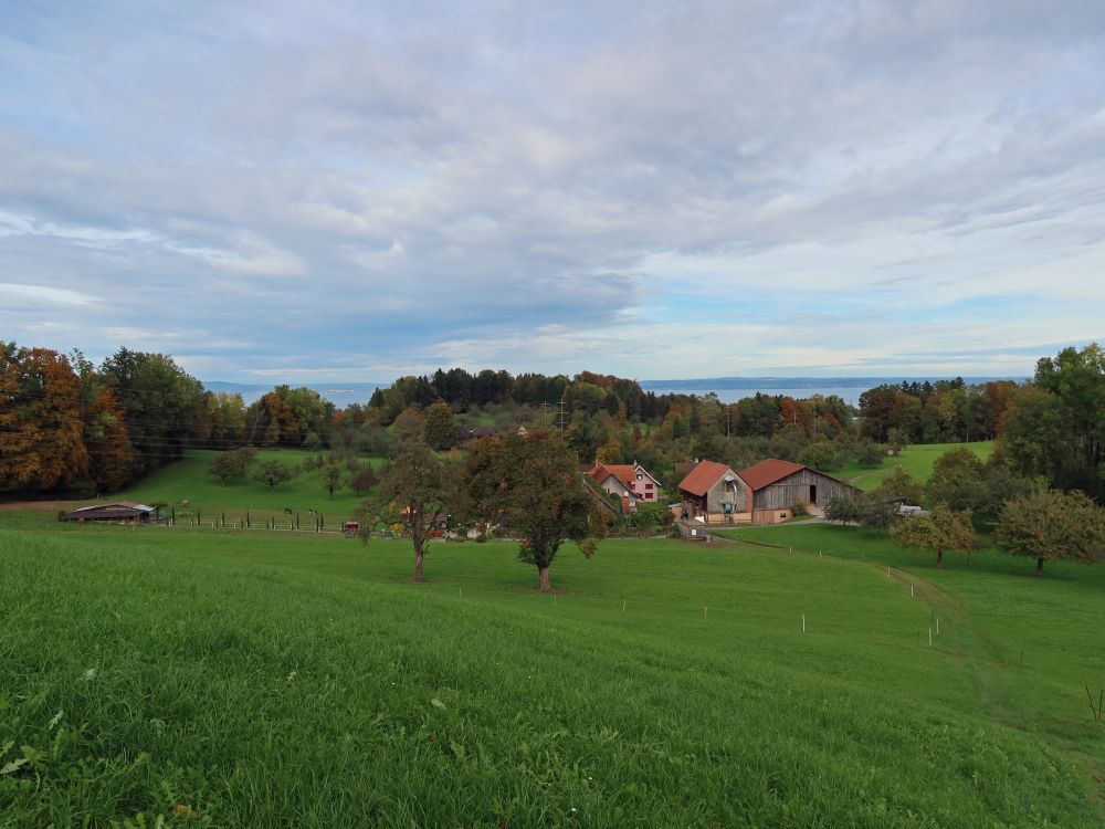
[[[1105,557],[1105,508],[1082,492],[1038,492],[1007,501],[998,521],[998,544],[1036,559],[1096,562]]]

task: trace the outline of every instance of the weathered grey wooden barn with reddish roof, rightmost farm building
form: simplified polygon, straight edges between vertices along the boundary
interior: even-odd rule
[[[792,507],[800,501],[817,514],[833,499],[851,499],[859,493],[851,484],[823,472],[774,458],[741,470],[739,475],[748,487],[746,510],[754,524],[786,521],[793,516]]]

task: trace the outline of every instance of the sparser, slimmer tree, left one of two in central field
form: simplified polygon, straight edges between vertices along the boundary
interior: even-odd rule
[[[414,580],[424,581],[422,559],[434,516],[449,502],[444,464],[417,431],[406,433],[396,455],[380,470],[375,496],[365,512],[386,524],[402,524],[414,545]],[[366,534],[362,536],[367,538]]]

